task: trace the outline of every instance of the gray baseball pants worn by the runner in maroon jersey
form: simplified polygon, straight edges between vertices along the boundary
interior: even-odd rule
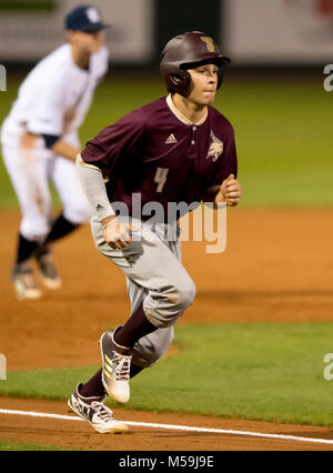
[[[123,250],[113,250],[105,242],[101,223],[93,215],[91,231],[98,250],[119,266],[127,276],[132,312],[143,301],[148,320],[158,328],[134,345],[133,364],[148,368],[169,349],[173,325],[192,304],[195,285],[181,262],[181,243],[176,224],[131,221],[138,232]]]

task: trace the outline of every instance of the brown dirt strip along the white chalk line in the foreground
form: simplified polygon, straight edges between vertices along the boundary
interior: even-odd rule
[[[0,409],[70,415],[65,403],[39,400],[0,399]],[[173,413],[138,412],[117,409],[117,419],[131,422],[238,430],[255,433],[333,440],[325,427],[274,424]],[[230,450],[333,450],[333,445],[262,439],[221,433],[182,432],[150,426],[130,426],[125,435],[102,435],[85,422],[37,419],[0,414],[0,439],[38,445],[57,445],[81,450],[107,451],[230,451]]]

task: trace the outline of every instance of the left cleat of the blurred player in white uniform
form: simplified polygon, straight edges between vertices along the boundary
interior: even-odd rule
[[[29,261],[16,263],[11,273],[11,279],[19,301],[41,298],[42,292],[36,284]]]

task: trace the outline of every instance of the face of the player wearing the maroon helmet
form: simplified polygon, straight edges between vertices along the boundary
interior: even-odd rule
[[[189,69],[188,72],[191,74],[192,80],[186,99],[199,105],[212,103],[218,88],[218,66],[203,64]]]

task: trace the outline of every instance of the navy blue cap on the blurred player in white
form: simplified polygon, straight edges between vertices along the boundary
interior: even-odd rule
[[[102,22],[100,12],[95,7],[85,4],[74,8],[65,17],[64,27],[67,30],[93,31],[109,28],[109,24]]]

